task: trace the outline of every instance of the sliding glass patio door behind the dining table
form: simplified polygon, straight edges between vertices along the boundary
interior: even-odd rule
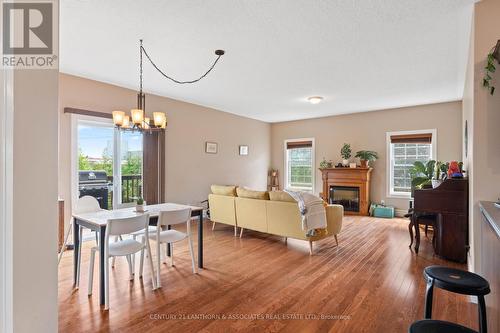
[[[93,196],[104,209],[132,206],[142,197],[142,133],[107,119],[78,119],[76,127],[77,197]]]

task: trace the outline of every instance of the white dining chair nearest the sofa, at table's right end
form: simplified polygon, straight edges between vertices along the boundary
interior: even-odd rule
[[[162,230],[162,226],[172,226],[176,224],[186,224],[186,233],[178,230]],[[189,253],[191,254],[191,265],[193,268],[193,273],[197,273],[196,264],[194,260],[193,252],[193,242],[191,240],[191,208],[164,211],[160,212],[158,216],[158,224],[155,233],[150,233],[149,238],[156,242],[156,287],[161,288],[160,281],[160,261],[161,261],[161,244],[166,244],[168,247],[171,246],[172,251],[170,252],[170,265],[174,265],[174,251],[173,243],[187,239]],[[144,262],[144,251],[141,251],[141,263],[140,270],[142,270]]]

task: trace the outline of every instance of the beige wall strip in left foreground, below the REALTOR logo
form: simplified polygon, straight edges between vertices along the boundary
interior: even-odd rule
[[[14,74],[14,332],[57,331],[57,83],[57,70]]]

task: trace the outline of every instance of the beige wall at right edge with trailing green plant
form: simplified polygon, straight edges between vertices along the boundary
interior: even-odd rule
[[[500,39],[500,1],[483,0],[475,5],[474,13],[474,43],[473,59],[469,71],[474,71],[474,77],[469,78],[470,88],[473,80],[473,109],[469,105],[464,109],[464,117],[473,118],[473,180],[470,197],[472,210],[472,232],[474,246],[474,270],[480,268],[480,232],[481,224],[478,202],[482,200],[495,201],[500,196],[500,75],[494,75],[494,85],[497,90],[493,96],[482,87],[486,55]],[[472,66],[472,67],[471,67]],[[500,66],[497,66],[500,69]],[[470,94],[470,92],[469,92]]]

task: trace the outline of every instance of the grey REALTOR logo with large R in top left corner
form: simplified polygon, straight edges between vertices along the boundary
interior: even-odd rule
[[[3,3],[3,67],[55,68],[56,1]]]

